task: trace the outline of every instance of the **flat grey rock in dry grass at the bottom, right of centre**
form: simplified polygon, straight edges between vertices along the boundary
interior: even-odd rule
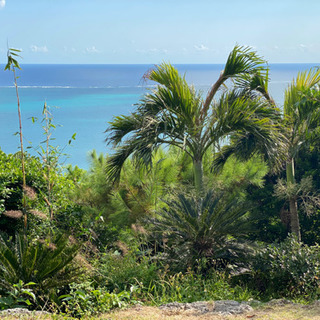
[[[241,314],[253,310],[247,302],[233,300],[218,300],[214,302],[198,301],[192,303],[172,302],[160,306],[160,309],[170,312],[192,311],[198,314]]]

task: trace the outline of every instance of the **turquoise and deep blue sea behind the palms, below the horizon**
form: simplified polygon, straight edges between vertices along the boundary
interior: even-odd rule
[[[281,106],[284,90],[299,71],[315,64],[271,64],[269,89]],[[176,65],[186,79],[206,94],[223,65]],[[89,167],[88,152],[110,152],[104,131],[114,116],[128,114],[152,83],[143,75],[152,65],[22,65],[18,86],[23,117],[24,144],[37,147],[45,139],[41,112],[46,102],[53,122],[52,145],[63,148],[76,133],[76,140],[64,149],[66,163]],[[18,114],[12,72],[0,65],[0,148],[6,153],[18,151]],[[38,122],[32,123],[31,117]],[[30,149],[32,152],[32,149]]]

